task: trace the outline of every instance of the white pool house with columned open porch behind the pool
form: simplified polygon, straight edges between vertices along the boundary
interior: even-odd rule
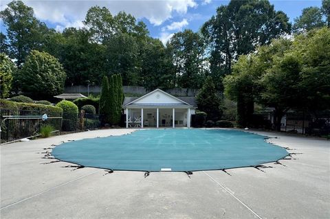
[[[197,105],[195,97],[175,97],[156,89],[142,97],[125,97],[126,128],[188,127]]]

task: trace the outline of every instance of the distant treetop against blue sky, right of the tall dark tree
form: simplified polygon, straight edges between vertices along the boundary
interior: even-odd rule
[[[303,33],[314,28],[324,27],[325,21],[323,21],[322,16],[323,14],[321,8],[304,8],[303,13],[298,18],[294,19],[294,32]]]

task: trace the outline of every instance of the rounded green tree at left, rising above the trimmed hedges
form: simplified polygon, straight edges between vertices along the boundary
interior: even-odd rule
[[[63,92],[66,73],[57,58],[44,51],[32,50],[14,76],[23,92],[39,99]]]

